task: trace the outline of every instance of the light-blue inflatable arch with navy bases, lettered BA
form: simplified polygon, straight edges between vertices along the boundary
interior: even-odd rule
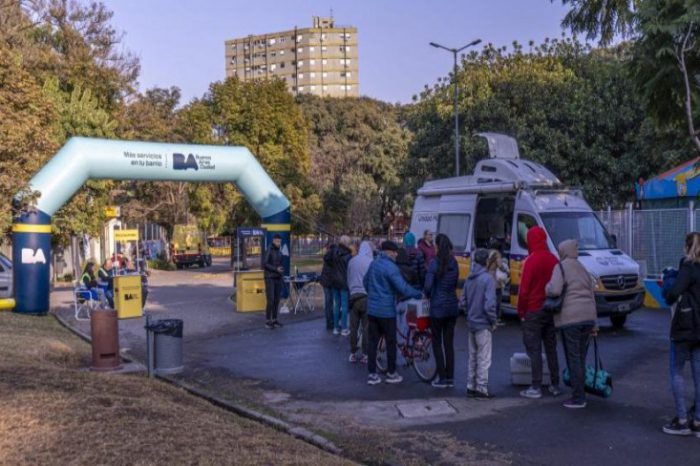
[[[31,180],[35,209],[12,226],[15,311],[49,310],[51,216],[89,179],[233,182],[289,249],[289,201],[245,147],[74,137]],[[289,274],[289,255],[285,256]]]

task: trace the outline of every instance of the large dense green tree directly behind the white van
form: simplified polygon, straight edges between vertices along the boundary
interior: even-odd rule
[[[634,182],[678,162],[687,151],[677,133],[657,130],[628,73],[627,47],[591,49],[573,40],[487,46],[458,72],[460,122],[467,169],[487,155],[477,132],[514,136],[524,158],[543,163],[594,206],[633,199]],[[449,176],[451,93],[447,81],[426,89],[409,110],[415,133],[407,177]]]

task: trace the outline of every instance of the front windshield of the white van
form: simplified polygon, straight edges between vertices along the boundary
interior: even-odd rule
[[[555,247],[564,240],[578,240],[579,250],[613,249],[612,238],[593,212],[541,213],[542,223]]]

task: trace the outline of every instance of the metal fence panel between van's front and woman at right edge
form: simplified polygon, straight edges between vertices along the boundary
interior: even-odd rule
[[[666,267],[678,267],[688,231],[688,209],[635,210],[632,258],[646,275],[660,275]]]

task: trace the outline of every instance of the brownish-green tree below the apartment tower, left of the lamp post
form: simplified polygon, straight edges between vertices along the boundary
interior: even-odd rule
[[[298,102],[310,126],[311,180],[323,200],[320,229],[386,231],[405,210],[400,173],[410,133],[399,108],[369,98]]]

